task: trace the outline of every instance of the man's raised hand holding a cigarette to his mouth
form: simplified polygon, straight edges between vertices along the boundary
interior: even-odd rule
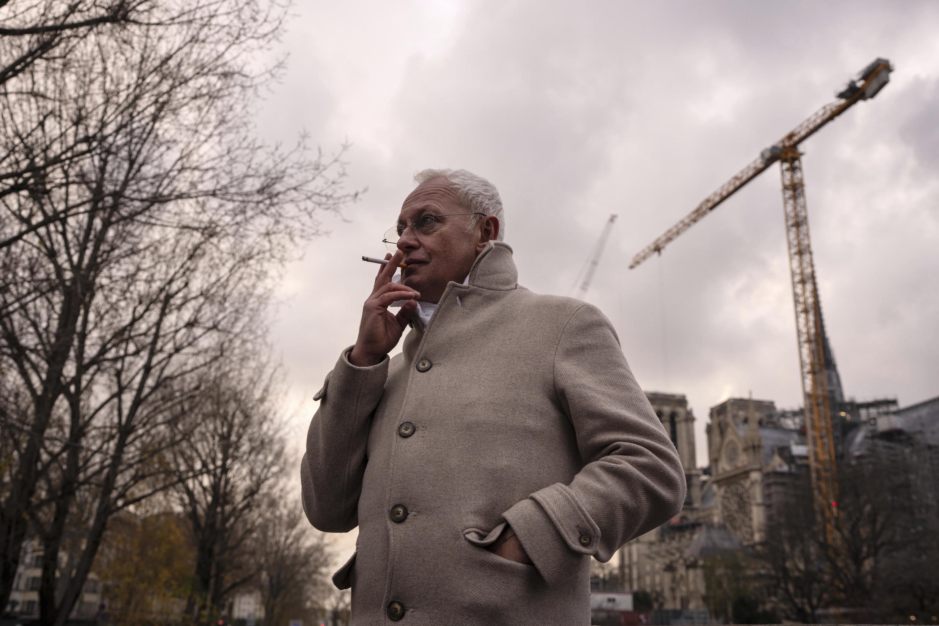
[[[349,353],[349,362],[357,367],[377,365],[398,344],[411,317],[417,313],[417,299],[421,294],[403,284],[392,282],[398,264],[404,258],[400,250],[386,254],[388,265],[378,269],[372,295],[362,306],[359,338]],[[397,300],[409,300],[397,315],[388,311],[388,305]]]

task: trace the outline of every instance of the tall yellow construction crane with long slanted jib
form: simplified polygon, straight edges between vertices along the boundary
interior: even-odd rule
[[[883,58],[876,59],[861,70],[838,94],[838,99],[810,115],[776,144],[762,151],[744,169],[704,199],[684,220],[679,221],[633,257],[629,268],[639,266],[654,252],[662,249],[693,223],[713,211],[720,203],[779,161],[782,171],[782,206],[786,217],[786,239],[789,244],[789,267],[793,274],[795,328],[802,367],[802,392],[805,397],[808,461],[811,471],[815,506],[824,520],[825,535],[834,540],[838,517],[838,481],[835,469],[835,443],[831,427],[832,407],[828,382],[825,380],[825,340],[822,310],[819,304],[815,266],[808,238],[806,192],[802,178],[802,160],[798,146],[860,100],[873,98],[890,80],[893,68]]]

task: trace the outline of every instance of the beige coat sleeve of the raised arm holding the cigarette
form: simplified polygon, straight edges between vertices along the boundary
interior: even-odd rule
[[[389,359],[370,367],[348,361],[346,348],[326,376],[315,400],[306,451],[300,461],[303,512],[324,532],[346,532],[359,525],[359,495],[372,412],[381,400]]]

